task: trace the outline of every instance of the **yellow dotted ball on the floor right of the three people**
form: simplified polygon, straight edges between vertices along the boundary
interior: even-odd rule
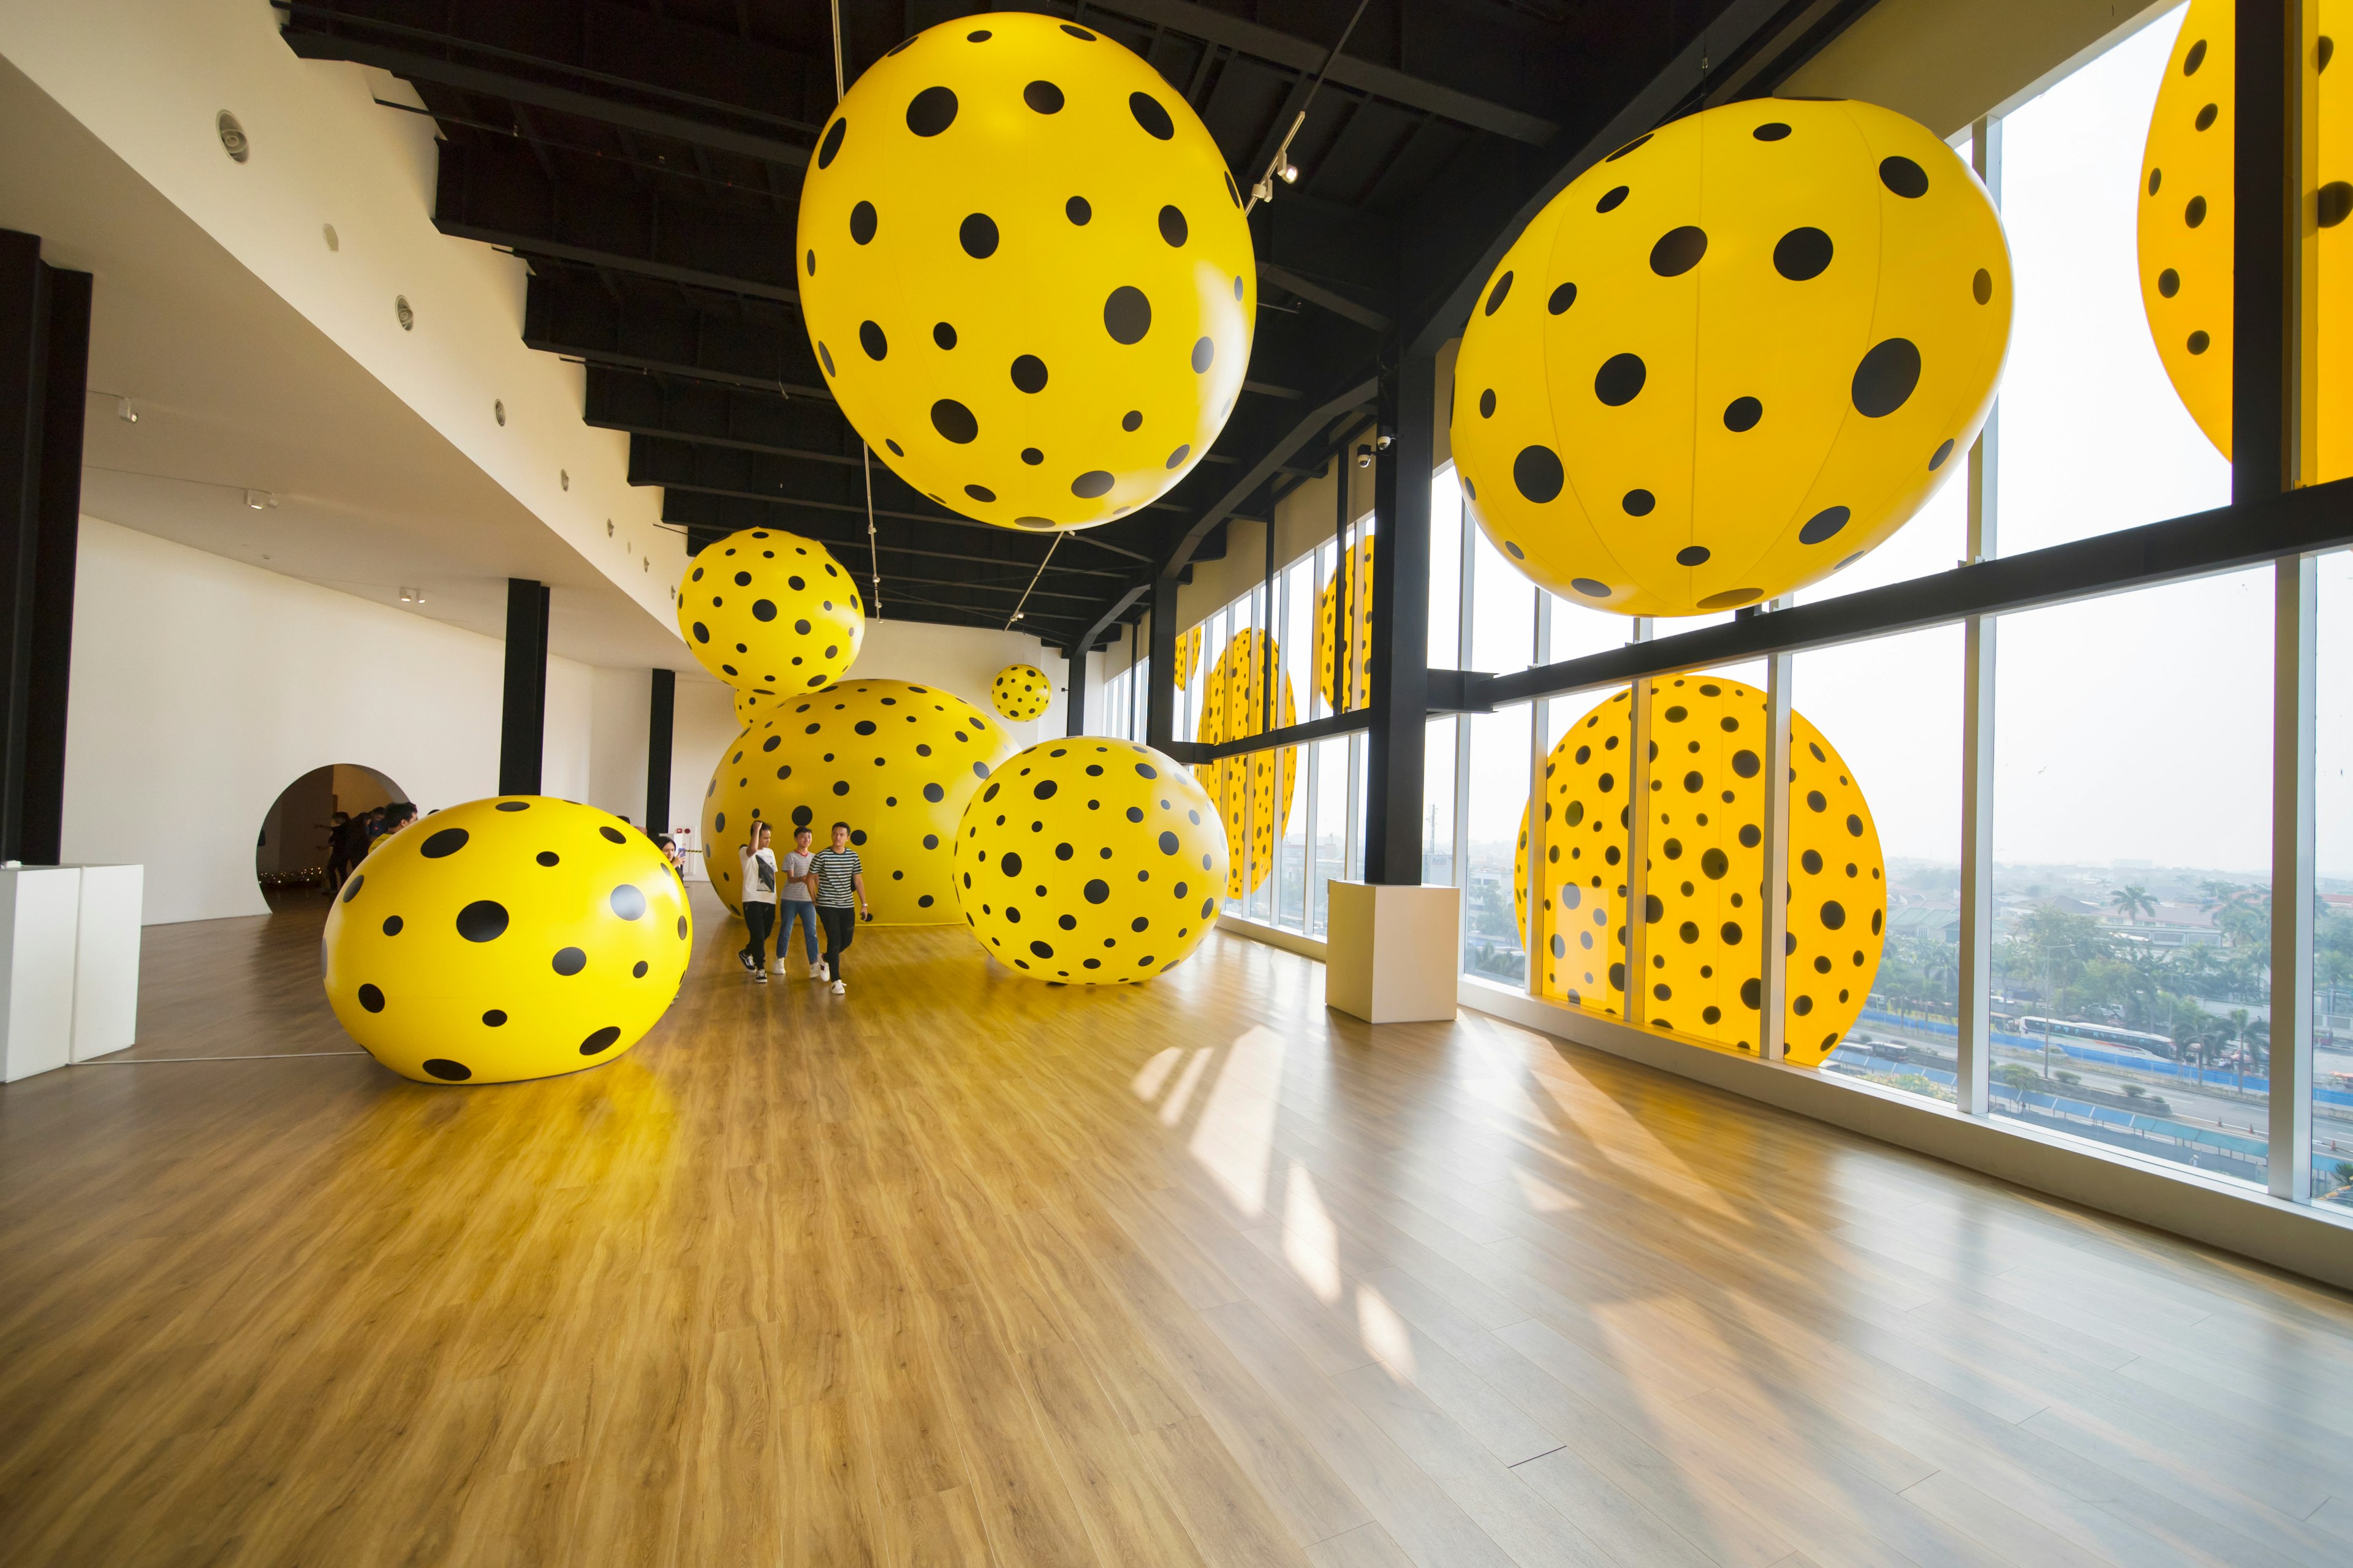
[[[1226,835],[1181,764],[1134,741],[1040,741],[955,830],[955,898],[1033,980],[1127,985],[1181,964],[1217,924]]]

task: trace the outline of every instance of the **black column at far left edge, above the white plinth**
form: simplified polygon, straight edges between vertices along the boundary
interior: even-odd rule
[[[0,230],[0,858],[56,860],[80,543],[89,273]]]

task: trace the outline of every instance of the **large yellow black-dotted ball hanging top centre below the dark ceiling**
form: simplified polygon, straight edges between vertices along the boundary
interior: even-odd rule
[[[826,386],[908,484],[1080,529],[1209,451],[1249,367],[1240,190],[1158,71],[1094,28],[995,12],[875,61],[800,188]]]

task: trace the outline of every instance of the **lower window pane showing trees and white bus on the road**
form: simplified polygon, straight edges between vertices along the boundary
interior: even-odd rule
[[[2005,616],[1993,1114],[2266,1178],[2271,571]]]

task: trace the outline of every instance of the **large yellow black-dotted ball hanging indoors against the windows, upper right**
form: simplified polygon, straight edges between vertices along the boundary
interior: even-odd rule
[[[1544,588],[1692,616],[1894,534],[1977,440],[2009,249],[1944,141],[1751,99],[1638,136],[1537,214],[1471,310],[1454,463]]]

